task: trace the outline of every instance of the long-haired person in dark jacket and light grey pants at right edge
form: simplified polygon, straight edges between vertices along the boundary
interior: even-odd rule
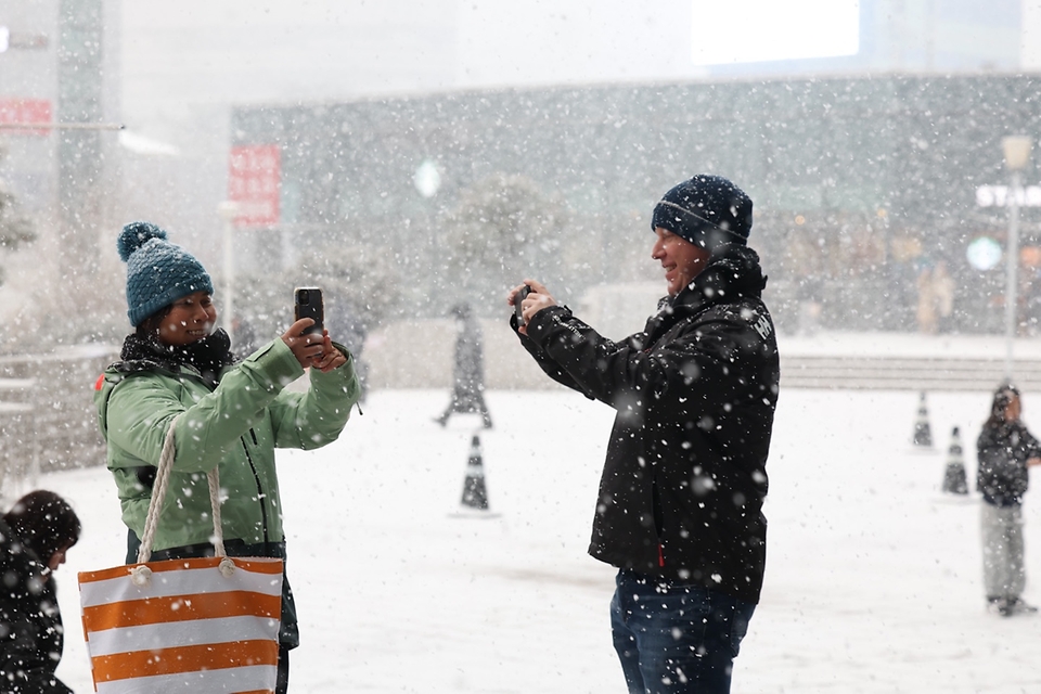
[[[1021,597],[1026,584],[1021,504],[1030,483],[1027,466],[1041,464],[1041,444],[1019,419],[1021,411],[1019,390],[1001,384],[976,442],[976,486],[984,496],[984,587],[988,608],[1003,617],[1038,611]]]

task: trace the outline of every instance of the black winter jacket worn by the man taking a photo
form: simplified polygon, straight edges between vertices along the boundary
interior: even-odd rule
[[[764,285],[756,253],[728,245],[622,342],[566,307],[532,317],[520,338],[543,371],[617,411],[592,556],[758,603],[780,380]]]

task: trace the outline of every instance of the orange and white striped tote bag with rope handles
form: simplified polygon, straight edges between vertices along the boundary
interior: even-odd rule
[[[171,423],[138,564],[79,574],[94,689],[273,693],[282,560],[226,555],[216,468],[209,474],[215,556],[149,562],[172,459]]]

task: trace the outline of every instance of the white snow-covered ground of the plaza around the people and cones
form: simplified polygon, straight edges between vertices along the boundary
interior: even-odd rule
[[[1038,692],[1041,617],[984,608],[978,496],[939,491],[952,426],[969,476],[987,394],[930,394],[935,449],[914,449],[916,393],[787,390],[771,478],[767,580],[734,692]],[[564,390],[492,391],[496,428],[432,417],[448,394],[384,390],[337,444],[281,454],[303,646],[293,691],[622,692],[613,569],[586,554],[612,412]],[[1041,394],[1025,419],[1041,433]],[[493,516],[457,517],[477,433]],[[1036,485],[1038,483],[1034,474]],[[91,691],[76,571],[118,564],[105,470],[46,476],[85,523],[57,574],[59,673]],[[1041,489],[1025,504],[1041,603]]]

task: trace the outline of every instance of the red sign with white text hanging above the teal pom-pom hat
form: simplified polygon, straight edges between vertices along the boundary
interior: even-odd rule
[[[279,223],[282,151],[277,144],[246,144],[231,149],[228,198],[237,204],[236,227]]]

